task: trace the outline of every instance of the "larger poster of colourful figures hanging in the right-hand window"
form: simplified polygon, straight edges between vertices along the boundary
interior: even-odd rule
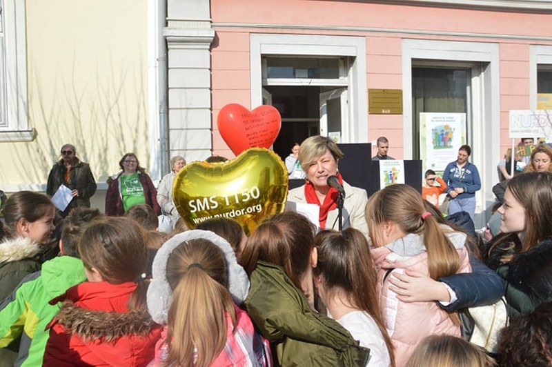
[[[466,114],[421,112],[420,123],[420,158],[424,170],[432,169],[441,175],[466,143]]]

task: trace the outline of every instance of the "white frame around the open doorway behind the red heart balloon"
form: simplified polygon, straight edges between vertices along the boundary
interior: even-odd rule
[[[366,38],[306,34],[250,34],[251,107],[262,105],[262,57],[264,55],[354,57],[347,75],[348,122],[344,143],[368,141],[368,90],[366,89]],[[278,83],[270,79],[272,83]],[[281,81],[283,82],[283,81]],[[288,80],[288,82],[290,82]],[[319,81],[323,83],[324,81]],[[295,81],[301,83],[301,81]],[[312,85],[312,84],[311,84]],[[337,81],[336,87],[343,86]],[[354,122],[353,122],[354,121]]]

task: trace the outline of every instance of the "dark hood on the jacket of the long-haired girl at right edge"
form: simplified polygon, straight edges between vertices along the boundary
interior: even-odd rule
[[[508,266],[506,281],[516,288],[534,298],[552,294],[552,237],[515,255]]]

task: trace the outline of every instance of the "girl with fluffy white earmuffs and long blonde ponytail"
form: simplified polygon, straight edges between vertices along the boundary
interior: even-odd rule
[[[166,324],[153,366],[270,366],[242,303],[248,277],[228,241],[205,230],[168,240],[153,262],[148,308]],[[228,289],[230,288],[230,289]]]

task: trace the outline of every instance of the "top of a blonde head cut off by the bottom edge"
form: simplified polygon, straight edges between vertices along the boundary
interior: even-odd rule
[[[491,367],[491,357],[468,341],[451,335],[430,335],[417,345],[406,367]]]

